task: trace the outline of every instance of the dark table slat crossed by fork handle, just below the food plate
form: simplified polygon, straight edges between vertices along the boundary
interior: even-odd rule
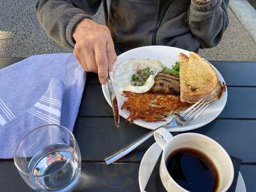
[[[104,157],[124,147],[131,141],[147,133],[148,129],[125,122],[116,129],[113,118],[78,118],[76,136],[83,160],[104,161]],[[256,162],[256,121],[255,120],[214,120],[211,124],[191,132],[205,134],[218,141],[228,154],[239,157],[243,162]],[[177,133],[173,133],[175,135]],[[154,143],[150,138],[120,162],[141,161],[147,148]]]

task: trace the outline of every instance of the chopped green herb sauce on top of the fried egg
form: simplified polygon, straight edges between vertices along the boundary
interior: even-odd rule
[[[153,72],[150,71],[150,68],[143,68],[136,71],[135,74],[132,75],[132,85],[134,86],[142,86],[147,81],[148,77],[152,75]]]

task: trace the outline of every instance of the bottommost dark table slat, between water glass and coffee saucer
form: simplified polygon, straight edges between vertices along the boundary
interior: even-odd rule
[[[76,192],[139,191],[138,170],[140,164],[83,163],[81,180]],[[33,190],[24,182],[12,162],[0,162],[0,191],[17,192]]]

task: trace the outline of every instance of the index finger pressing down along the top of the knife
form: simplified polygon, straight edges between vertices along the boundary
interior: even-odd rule
[[[106,43],[95,45],[95,61],[98,67],[98,76],[100,83],[106,83],[108,78],[108,56],[106,52]]]

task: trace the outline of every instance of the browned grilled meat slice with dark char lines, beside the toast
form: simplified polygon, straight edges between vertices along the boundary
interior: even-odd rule
[[[160,72],[155,77],[155,84],[151,89],[154,93],[180,94],[179,77],[165,72]]]

